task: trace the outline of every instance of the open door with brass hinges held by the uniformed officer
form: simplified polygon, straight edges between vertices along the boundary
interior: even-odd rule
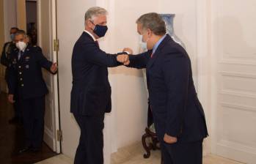
[[[54,51],[56,40],[56,1],[40,0],[39,13],[39,43],[45,57],[52,62],[57,62],[57,52]],[[43,70],[43,77],[48,87],[45,97],[45,133],[44,141],[54,150],[60,152],[60,141],[57,138],[59,130],[59,103],[57,75],[51,75]]]

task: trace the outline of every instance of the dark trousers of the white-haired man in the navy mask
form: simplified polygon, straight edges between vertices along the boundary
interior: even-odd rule
[[[103,164],[104,114],[83,116],[73,113],[81,134],[74,164]]]

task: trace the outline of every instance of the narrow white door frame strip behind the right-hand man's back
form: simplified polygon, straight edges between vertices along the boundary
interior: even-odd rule
[[[205,111],[206,123],[208,126],[209,137],[203,144],[203,154],[211,154],[213,139],[212,131],[212,112],[211,106],[211,53],[209,46],[208,20],[209,20],[209,1],[197,0],[197,82],[198,97]]]

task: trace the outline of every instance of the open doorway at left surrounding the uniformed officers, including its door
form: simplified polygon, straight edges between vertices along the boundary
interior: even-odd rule
[[[3,3],[2,6],[0,5],[0,12],[3,13],[4,19],[7,18],[3,19],[5,24],[4,28],[0,29],[1,32],[7,34],[10,27],[18,27],[18,29],[26,31],[29,43],[32,46],[40,46],[44,56],[51,62],[56,62],[57,52],[54,51],[54,40],[56,39],[55,1],[5,0],[0,2]],[[7,39],[4,42],[10,42],[9,37],[5,38]],[[0,46],[2,47],[2,45]],[[1,70],[1,77],[4,77],[4,70]],[[0,87],[1,91],[4,91],[0,92],[0,161],[2,163],[37,163],[60,153],[57,78],[56,75],[54,77],[44,70],[43,78],[49,92],[45,97],[44,142],[42,149],[37,153],[18,153],[24,146],[23,124],[22,122],[9,122],[15,115],[13,105],[7,101],[8,91],[4,90],[6,87],[3,85]]]

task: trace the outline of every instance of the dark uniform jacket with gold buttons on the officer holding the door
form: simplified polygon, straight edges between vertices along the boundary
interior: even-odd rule
[[[18,88],[22,99],[44,96],[48,89],[43,80],[42,67],[51,72],[52,62],[43,56],[40,47],[28,46],[21,59],[18,59],[18,53],[18,48],[15,48],[10,54],[9,94],[14,94]]]

